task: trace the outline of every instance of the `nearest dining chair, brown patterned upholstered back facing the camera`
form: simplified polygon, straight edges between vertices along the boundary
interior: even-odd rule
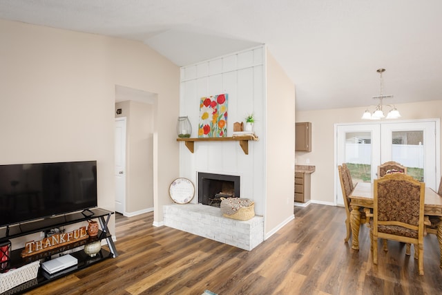
[[[374,180],[374,209],[370,221],[373,263],[378,264],[378,238],[414,244],[423,275],[425,183],[401,173]]]

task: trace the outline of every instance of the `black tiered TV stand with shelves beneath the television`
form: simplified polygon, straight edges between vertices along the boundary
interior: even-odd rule
[[[94,237],[89,237],[84,240],[78,240],[76,242],[70,243],[68,245],[63,245],[60,247],[57,247],[55,249],[50,249],[48,251],[44,251],[40,254],[35,254],[32,256],[27,256],[22,258],[21,257],[21,251],[23,251],[24,248],[21,249],[15,249],[11,251],[10,253],[10,268],[18,268],[23,265],[26,265],[28,263],[32,263],[33,261],[40,260],[43,262],[44,260],[50,260],[52,255],[59,254],[64,251],[75,249],[73,253],[70,253],[70,255],[77,258],[78,263],[77,265],[73,267],[69,267],[68,269],[64,269],[61,272],[57,272],[56,274],[49,275],[48,273],[44,272],[41,267],[39,268],[39,273],[37,275],[36,280],[32,280],[32,284],[23,283],[22,285],[19,285],[13,289],[10,289],[6,291],[7,293],[15,290],[20,290],[19,292],[23,292],[25,290],[33,289],[35,287],[38,287],[39,285],[46,284],[50,282],[51,280],[55,280],[56,278],[60,278],[62,276],[66,276],[67,274],[70,274],[72,272],[76,272],[79,269],[84,269],[90,265],[93,265],[95,263],[99,263],[100,261],[111,258],[111,257],[117,257],[117,249],[115,248],[115,245],[112,240],[112,235],[108,232],[108,221],[111,215],[114,213],[112,211],[108,211],[105,209],[95,208],[90,209],[90,211],[93,213],[91,214],[85,214],[85,213],[72,213],[72,214],[66,214],[64,216],[56,216],[53,218],[48,218],[44,220],[36,220],[32,222],[23,223],[21,225],[13,225],[10,227],[3,227],[0,229],[0,241],[1,240],[8,240],[12,238],[18,238],[21,236],[26,236],[29,234],[34,234],[39,231],[46,231],[50,229],[54,229],[57,227],[63,227],[66,225],[73,225],[78,222],[84,222],[86,220],[92,220],[92,219],[98,219],[99,224],[101,226],[101,230],[99,230],[98,235]],[[101,249],[99,253],[95,257],[90,257],[84,253],[83,249],[79,249],[77,251],[76,248],[81,247],[83,245],[86,245],[90,242],[95,242],[97,240],[106,240],[108,249]],[[27,285],[26,289],[23,289],[23,285]],[[29,285],[29,286],[28,286]],[[11,293],[12,294],[12,293]]]

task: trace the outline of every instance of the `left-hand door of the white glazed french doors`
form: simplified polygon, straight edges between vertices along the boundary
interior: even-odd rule
[[[336,126],[336,204],[344,206],[340,189],[338,165],[346,163],[352,173],[353,182],[372,182],[376,178],[381,158],[378,124],[355,124]]]

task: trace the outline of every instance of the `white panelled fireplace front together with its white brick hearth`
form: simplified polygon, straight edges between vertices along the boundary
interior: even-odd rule
[[[248,155],[237,141],[195,142],[193,153],[183,142],[179,143],[180,177],[195,184],[195,194],[198,194],[198,171],[238,175],[240,197],[255,202],[256,216],[247,221],[225,218],[219,208],[198,204],[197,195],[189,204],[165,205],[164,225],[251,250],[265,236],[265,47],[184,66],[180,80],[180,115],[189,117],[191,137],[198,137],[201,97],[228,94],[227,136],[233,133],[233,123],[243,122],[248,113],[257,118],[254,132],[260,140],[249,142]]]

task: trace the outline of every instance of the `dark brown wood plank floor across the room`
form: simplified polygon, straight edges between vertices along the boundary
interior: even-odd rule
[[[253,251],[169,227],[153,213],[117,216],[119,256],[41,286],[30,294],[442,294],[439,245],[425,237],[425,276],[405,245],[379,246],[373,265],[369,231],[360,251],[344,242],[345,211],[310,204]],[[413,250],[412,250],[413,254]]]

